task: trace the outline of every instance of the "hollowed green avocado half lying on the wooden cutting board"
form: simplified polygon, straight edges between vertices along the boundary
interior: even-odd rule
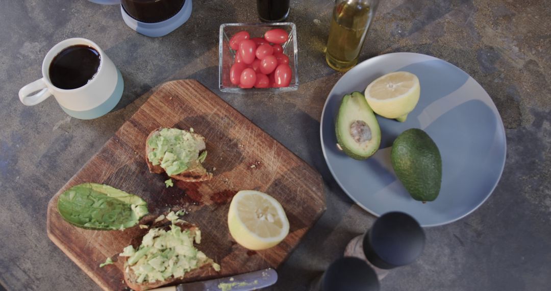
[[[73,186],[61,193],[57,209],[67,222],[96,230],[133,227],[148,213],[142,198],[95,183]]]

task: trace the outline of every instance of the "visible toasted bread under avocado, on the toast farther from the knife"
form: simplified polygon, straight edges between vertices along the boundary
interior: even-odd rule
[[[161,174],[165,172],[165,169],[161,168],[160,165],[153,165],[153,163],[149,160],[148,154],[152,148],[149,147],[148,141],[151,137],[153,137],[155,134],[159,134],[159,131],[163,128],[157,128],[156,130],[149,133],[149,136],[145,140],[145,162],[147,163],[147,166],[149,168],[149,171],[151,173]],[[199,152],[202,152],[206,149],[205,146],[205,138],[201,136],[201,134],[197,133],[191,133],[192,136],[197,139],[198,141],[201,141],[201,149],[199,149]],[[202,181],[208,181],[212,179],[212,173],[208,173],[207,169],[203,167],[201,162],[199,160],[191,161],[190,165],[188,165],[187,170],[183,171],[180,174],[172,175],[170,176],[172,179],[186,181],[186,182],[202,182]]]

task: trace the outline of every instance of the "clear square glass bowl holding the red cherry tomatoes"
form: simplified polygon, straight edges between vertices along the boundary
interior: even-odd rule
[[[230,47],[230,38],[239,31],[249,31],[251,38],[264,37],[266,31],[280,28],[289,34],[287,42],[282,44],[283,53],[289,57],[289,66],[291,67],[291,83],[288,87],[282,88],[250,88],[241,89],[237,85],[230,82],[230,68],[234,64],[234,58],[236,51]],[[298,49],[296,45],[296,26],[294,23],[259,23],[259,24],[245,24],[245,23],[229,23],[220,25],[220,44],[218,48],[219,64],[218,64],[218,78],[220,91],[229,93],[247,93],[247,92],[269,92],[277,93],[282,91],[293,91],[299,89],[299,76],[298,76]]]

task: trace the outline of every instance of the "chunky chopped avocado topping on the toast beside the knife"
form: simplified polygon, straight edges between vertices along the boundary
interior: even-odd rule
[[[137,282],[166,281],[171,277],[182,277],[185,273],[201,267],[209,258],[193,246],[201,243],[201,232],[183,230],[172,224],[170,230],[153,228],[144,235],[142,244],[134,249],[125,247],[119,256],[128,257],[127,266],[134,271]],[[220,270],[213,263],[215,270]],[[125,272],[128,272],[126,268]]]

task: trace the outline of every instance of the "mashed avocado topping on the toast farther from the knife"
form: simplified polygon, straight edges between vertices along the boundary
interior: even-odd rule
[[[190,162],[207,157],[201,139],[191,132],[177,128],[163,128],[151,136],[148,141],[147,158],[153,165],[160,165],[169,176],[177,175],[190,167]]]

